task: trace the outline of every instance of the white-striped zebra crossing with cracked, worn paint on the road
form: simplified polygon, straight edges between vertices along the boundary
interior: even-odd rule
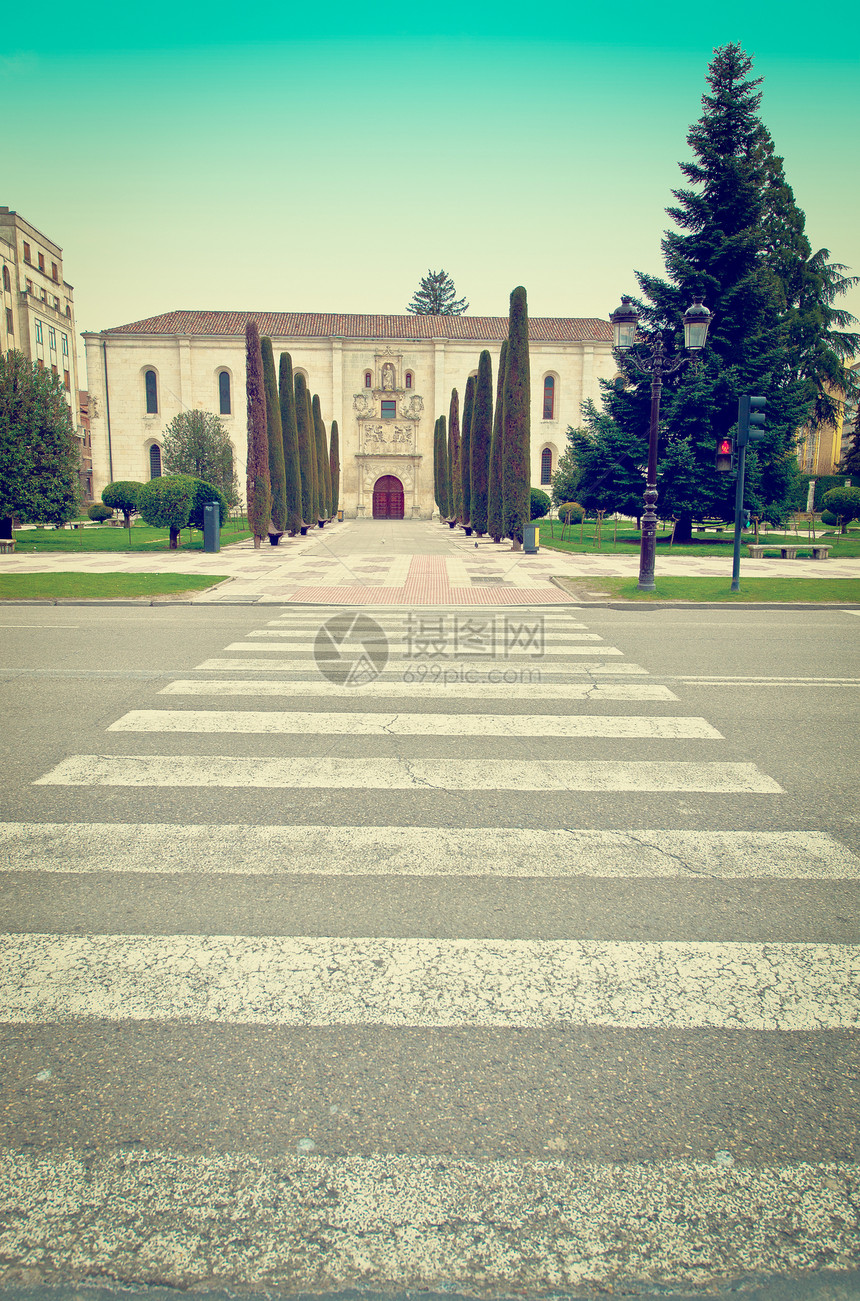
[[[860,1167],[826,1137],[816,1054],[826,1037],[847,1059],[860,960],[799,939],[791,909],[856,881],[860,860],[824,831],[649,826],[653,794],[700,796],[706,824],[710,801],[770,808],[786,792],[722,757],[683,686],[648,680],[576,613],[543,615],[539,654],[526,639],[457,664],[416,656],[396,611],[372,618],[384,664],[359,647],[355,684],[317,667],[325,614],[285,610],[118,714],[100,753],[34,779],[79,791],[82,821],[0,824],[0,873],[44,876],[59,917],[90,881],[122,917],[173,891],[157,930],[126,929],[90,892],[86,930],[3,935],[0,1020],[40,1046],[35,1064],[59,1063],[34,1072],[38,1088],[74,1072],[57,1046],[69,1036],[104,1076],[81,1082],[99,1097],[72,1127],[83,1137],[0,1158],[7,1258],[183,1287],[526,1294],[856,1265]],[[306,817],[280,816],[291,791]],[[168,792],[198,801],[193,820],[163,816]],[[544,795],[558,803],[532,825]],[[522,825],[480,822],[496,798]],[[595,808],[635,817],[578,826]],[[267,908],[304,919],[307,891],[367,929],[273,930]],[[686,900],[706,913],[746,891],[774,913],[749,924],[766,938],[693,933]],[[677,900],[671,935],[638,937],[652,899]],[[601,907],[621,909],[625,938]],[[821,1077],[808,1106],[783,1043]],[[732,1111],[760,1088],[764,1155]],[[821,1112],[817,1142],[794,1153],[781,1146],[792,1108]],[[49,1105],[39,1116],[55,1132]],[[151,1133],[129,1147],[144,1118]]]

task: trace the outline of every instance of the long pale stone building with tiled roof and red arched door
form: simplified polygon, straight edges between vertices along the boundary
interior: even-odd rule
[[[242,484],[246,319],[243,312],[177,311],[83,336],[96,496],[112,479],[160,474],[165,427],[194,407],[220,414]],[[453,388],[462,402],[484,347],[496,375],[507,317],[258,312],[255,320],[272,338],[276,364],[280,353],[289,353],[294,371],[319,393],[327,429],[338,423],[345,515],[402,511],[407,519],[429,519],[436,418],[448,415]],[[567,425],[579,423],[580,402],[597,399],[600,379],[615,373],[611,328],[601,320],[535,317],[530,355],[532,483],[548,487]]]

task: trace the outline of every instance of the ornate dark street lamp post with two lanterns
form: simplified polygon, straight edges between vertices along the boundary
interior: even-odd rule
[[[621,307],[609,317],[613,323],[614,343],[622,353],[630,353],[631,360],[643,375],[651,375],[651,424],[648,427],[648,467],[645,471],[645,510],[641,518],[641,543],[639,549],[639,591],[654,591],[654,554],[657,550],[657,435],[660,431],[660,394],[665,375],[674,375],[690,356],[679,354],[667,358],[660,330],[641,338],[651,349],[643,356],[635,351],[638,340],[639,312],[628,297],[623,297]],[[695,298],[692,307],[684,312],[684,347],[697,356],[705,346],[710,312],[703,306],[701,298]]]

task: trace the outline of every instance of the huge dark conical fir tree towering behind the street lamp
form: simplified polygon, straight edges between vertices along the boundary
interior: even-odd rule
[[[734,479],[717,472],[714,450],[731,432],[743,393],[768,398],[766,436],[747,458],[747,505],[774,519],[799,497],[795,440],[809,389],[792,366],[785,293],[769,260],[773,155],[757,113],[760,81],[748,78],[751,68],[740,46],[716,52],[710,94],[687,135],[693,161],[680,164],[690,189],[675,190],[677,204],[667,209],[679,228],[662,241],[669,278],[636,277],[643,319],[662,332],[670,354],[683,345],[680,321],[693,294],[713,312],[700,363],[682,367],[664,384],[657,510],[678,516],[678,540],[690,540],[695,516],[730,518],[734,511]],[[783,217],[791,213],[783,211]],[[782,232],[788,237],[785,222]],[[621,356],[619,366],[626,384],[604,386],[606,406],[644,449],[651,382],[628,356]]]

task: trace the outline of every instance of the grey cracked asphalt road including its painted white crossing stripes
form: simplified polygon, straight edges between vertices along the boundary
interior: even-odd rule
[[[553,611],[327,693],[325,617],[0,609],[0,1281],[856,1268],[860,618]]]

